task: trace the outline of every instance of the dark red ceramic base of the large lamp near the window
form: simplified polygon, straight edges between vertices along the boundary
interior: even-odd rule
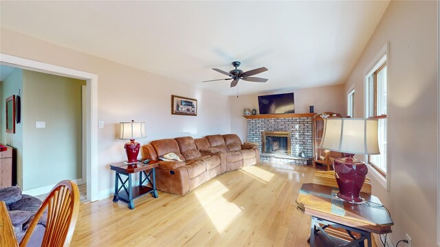
[[[360,189],[369,169],[364,162],[356,160],[353,156],[354,154],[344,154],[344,158],[336,158],[334,168],[339,187],[338,198],[358,203],[362,202]]]

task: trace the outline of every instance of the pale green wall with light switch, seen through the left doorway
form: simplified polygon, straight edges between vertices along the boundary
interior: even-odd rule
[[[81,85],[84,80],[23,70],[23,190],[81,178]]]

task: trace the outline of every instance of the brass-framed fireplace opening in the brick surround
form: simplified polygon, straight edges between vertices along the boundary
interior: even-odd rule
[[[290,132],[263,132],[263,153],[291,155]]]

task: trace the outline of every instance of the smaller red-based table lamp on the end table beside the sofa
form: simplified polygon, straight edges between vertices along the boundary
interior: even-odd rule
[[[126,152],[126,163],[137,163],[137,154],[139,154],[140,144],[135,142],[135,139],[146,137],[145,122],[120,122],[119,139],[129,139],[130,142],[125,143],[124,148]]]

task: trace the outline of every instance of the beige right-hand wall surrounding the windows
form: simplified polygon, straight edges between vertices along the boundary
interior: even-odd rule
[[[437,245],[437,4],[391,1],[345,83],[355,86],[355,117],[364,117],[364,70],[389,41],[389,191],[369,176],[395,222],[394,244],[408,233],[412,246]]]

